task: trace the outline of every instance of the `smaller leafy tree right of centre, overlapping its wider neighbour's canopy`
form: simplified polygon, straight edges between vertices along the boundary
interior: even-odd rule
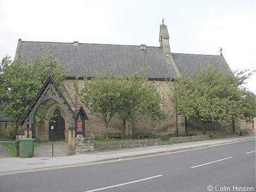
[[[135,111],[140,111],[145,116],[150,117],[152,126],[157,122],[166,119],[166,113],[162,110],[164,105],[161,95],[155,87],[149,83],[147,69],[140,75],[132,74],[126,81],[122,92],[123,106],[118,112],[119,119],[123,122],[122,135],[125,134],[125,124],[132,118]]]

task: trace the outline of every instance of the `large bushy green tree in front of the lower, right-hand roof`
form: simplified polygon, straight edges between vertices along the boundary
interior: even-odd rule
[[[256,109],[255,101],[254,105],[250,103],[252,110],[246,110],[243,106],[248,106],[251,99],[245,97],[246,91],[241,87],[249,75],[224,75],[211,65],[200,69],[194,79],[182,75],[175,79],[178,89],[174,94],[177,95],[180,113],[186,118],[199,117],[204,123],[204,134],[211,122],[225,125],[235,117],[251,117],[253,109]],[[170,99],[174,101],[176,98],[170,95]]]

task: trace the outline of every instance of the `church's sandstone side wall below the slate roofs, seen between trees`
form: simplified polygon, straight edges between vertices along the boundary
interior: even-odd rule
[[[69,105],[74,109],[75,106],[81,101],[76,95],[75,89],[73,87],[75,79],[66,79],[63,82],[63,87],[61,89],[62,94],[68,101]],[[90,80],[89,80],[90,81]],[[172,83],[172,82],[171,82]],[[83,79],[78,80],[78,87],[82,89],[84,84]],[[171,136],[175,137],[177,134],[176,128],[176,116],[175,116],[175,108],[174,104],[171,103],[168,94],[171,94],[169,86],[165,81],[154,81],[155,86],[160,91],[162,95],[162,99],[165,102],[163,109],[168,114],[166,121],[161,122],[160,124],[156,124],[155,127],[151,127],[151,121],[146,116],[136,113],[129,123],[129,131],[126,130],[126,133],[129,132],[130,137],[132,135],[139,132],[153,132],[155,137],[159,135],[162,136]],[[105,137],[105,125],[102,119],[91,115],[90,111],[83,106],[89,120],[85,121],[85,132],[90,132],[95,135],[95,138],[104,138]],[[99,114],[100,115],[100,114]],[[186,127],[186,129],[185,129]],[[245,123],[243,121],[236,121],[235,132],[238,132],[243,129],[250,129],[251,124]],[[117,115],[111,119],[109,123],[109,130],[111,133],[122,133],[122,121],[118,119]],[[252,131],[252,128],[250,129]],[[215,134],[217,132],[224,132],[225,134],[229,134],[233,132],[233,124],[222,126],[218,123],[211,123],[209,130],[207,130],[209,134]],[[186,121],[181,115],[178,115],[178,136],[191,136],[202,134],[203,132],[203,124],[200,120],[196,118],[190,118],[189,121]]]

